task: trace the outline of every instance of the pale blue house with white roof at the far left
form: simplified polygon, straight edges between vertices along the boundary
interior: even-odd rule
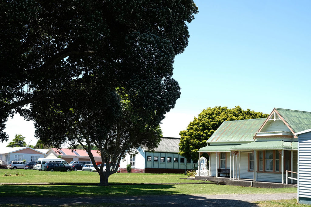
[[[4,165],[12,160],[36,161],[39,158],[43,158],[47,151],[44,149],[33,149],[29,146],[1,147],[0,163]]]

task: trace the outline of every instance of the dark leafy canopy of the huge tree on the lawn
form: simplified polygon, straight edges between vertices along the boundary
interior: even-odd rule
[[[156,146],[158,125],[180,93],[171,76],[197,13],[192,0],[0,4],[0,141],[19,112],[55,147],[80,140],[88,151],[89,140],[102,151],[123,126],[130,142]]]

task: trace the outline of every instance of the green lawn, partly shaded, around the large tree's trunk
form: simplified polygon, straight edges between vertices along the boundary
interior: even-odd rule
[[[23,176],[5,176],[4,173],[21,173]],[[184,174],[115,173],[109,177],[109,187],[85,185],[1,185],[0,197],[7,196],[132,196],[132,195],[215,195],[297,192],[297,188],[250,188],[215,184],[201,185],[113,185],[141,182],[202,182],[182,180]],[[98,173],[45,172],[38,170],[0,170],[0,183],[6,182],[99,182]],[[21,193],[22,192],[22,193]]]

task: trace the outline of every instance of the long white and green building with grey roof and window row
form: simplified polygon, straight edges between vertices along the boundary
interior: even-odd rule
[[[120,163],[121,173],[127,172],[127,164],[131,164],[132,173],[185,173],[193,169],[193,161],[178,154],[179,142],[180,138],[162,137],[154,151],[137,149],[138,154],[127,154]]]

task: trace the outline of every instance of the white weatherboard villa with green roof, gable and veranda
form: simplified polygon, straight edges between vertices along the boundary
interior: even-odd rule
[[[249,179],[250,185],[285,183],[286,170],[289,177],[297,178],[295,133],[310,128],[311,112],[274,108],[267,119],[225,121],[208,139],[208,146],[199,149],[199,156],[210,155],[210,176]]]

